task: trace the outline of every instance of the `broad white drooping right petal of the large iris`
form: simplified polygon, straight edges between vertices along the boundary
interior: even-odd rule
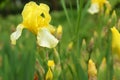
[[[37,34],[37,43],[42,47],[54,48],[58,44],[58,40],[47,28],[41,28]]]

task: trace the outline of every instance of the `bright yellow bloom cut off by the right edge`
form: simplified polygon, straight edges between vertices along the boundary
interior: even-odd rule
[[[120,56],[120,33],[113,27],[112,31],[112,52]]]

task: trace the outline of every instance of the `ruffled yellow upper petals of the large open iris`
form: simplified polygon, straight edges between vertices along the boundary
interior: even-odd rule
[[[40,28],[48,27],[51,21],[49,7],[43,3],[37,5],[33,1],[25,5],[22,17],[22,24],[34,34],[37,34]]]

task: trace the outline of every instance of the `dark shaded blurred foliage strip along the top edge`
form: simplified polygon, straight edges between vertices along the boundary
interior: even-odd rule
[[[51,10],[62,10],[60,0],[0,0],[0,14],[9,15],[9,14],[19,14],[21,13],[24,5],[29,1],[35,1],[36,3],[46,3],[50,6]],[[88,0],[84,0],[84,5]],[[113,9],[118,9],[120,7],[120,0],[109,0]],[[76,1],[74,0],[65,0],[66,6],[70,8],[76,8]]]

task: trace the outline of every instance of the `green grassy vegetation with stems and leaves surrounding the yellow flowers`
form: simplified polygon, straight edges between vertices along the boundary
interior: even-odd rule
[[[120,30],[120,6],[115,7],[120,1],[110,0],[109,15],[104,12],[91,15],[88,13],[90,1],[80,0],[79,3],[76,9],[69,3],[67,9],[61,0],[63,10],[50,13],[50,23],[63,28],[54,49],[38,46],[36,35],[27,29],[23,30],[16,45],[11,45],[10,35],[22,22],[22,16],[20,13],[0,15],[0,80],[45,80],[48,60],[55,62],[53,80],[88,80],[89,59],[95,63],[97,80],[120,80],[120,59],[112,54],[110,31],[115,25]],[[117,18],[111,17],[113,10]],[[71,42],[73,45],[69,47]],[[106,66],[101,68],[103,58]]]

